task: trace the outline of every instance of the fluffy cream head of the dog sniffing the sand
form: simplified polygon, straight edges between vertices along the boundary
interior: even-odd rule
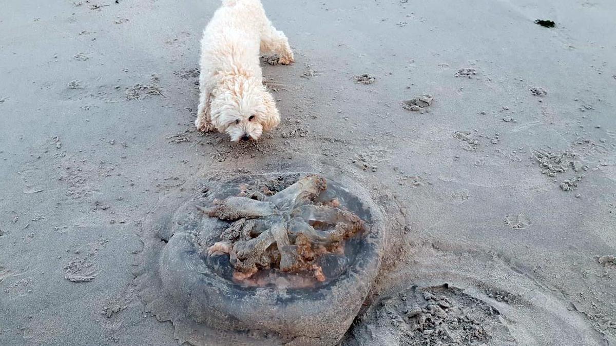
[[[254,78],[234,78],[219,86],[210,110],[216,129],[228,134],[232,142],[257,140],[280,122],[274,97]]]

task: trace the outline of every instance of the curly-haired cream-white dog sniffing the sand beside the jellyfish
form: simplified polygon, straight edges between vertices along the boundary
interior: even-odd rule
[[[263,85],[259,57],[278,54],[294,61],[282,33],[265,16],[259,0],[222,0],[201,40],[199,131],[216,129],[238,140],[257,140],[280,123],[274,97]]]

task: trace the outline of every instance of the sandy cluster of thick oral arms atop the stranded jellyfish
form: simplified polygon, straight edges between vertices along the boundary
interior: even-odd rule
[[[238,282],[253,280],[259,270],[269,268],[312,273],[323,282],[321,256],[344,255],[346,239],[365,229],[358,215],[341,207],[320,175],[307,175],[264,201],[232,196],[200,209],[232,222],[208,252],[229,254]]]

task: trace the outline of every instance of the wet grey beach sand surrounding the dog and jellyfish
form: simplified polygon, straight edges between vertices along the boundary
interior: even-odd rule
[[[0,344],[176,345],[141,225],[224,171],[341,175],[402,216],[344,344],[464,313],[476,344],[616,342],[616,4],[264,0],[296,63],[263,65],[283,121],[238,144],[193,127],[218,4],[2,2]]]

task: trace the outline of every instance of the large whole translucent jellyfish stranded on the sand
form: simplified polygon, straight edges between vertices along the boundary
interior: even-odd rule
[[[180,343],[333,345],[379,270],[383,225],[342,178],[195,178],[144,224],[139,296]]]

